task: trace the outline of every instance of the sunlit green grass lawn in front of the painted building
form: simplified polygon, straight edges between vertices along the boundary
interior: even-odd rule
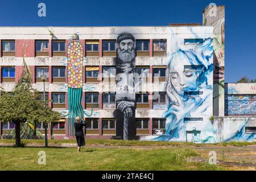
[[[187,163],[199,156],[190,149],[0,147],[0,170],[222,170],[206,163]],[[46,165],[38,152],[46,152]]]

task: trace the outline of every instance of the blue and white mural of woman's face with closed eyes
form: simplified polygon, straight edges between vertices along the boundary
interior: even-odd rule
[[[185,44],[184,35],[173,34],[173,52],[168,53],[166,132],[148,138],[214,143],[216,127],[209,119],[213,113],[213,38],[210,34],[202,38],[193,28],[186,32],[192,43]],[[193,43],[199,38],[200,43]]]

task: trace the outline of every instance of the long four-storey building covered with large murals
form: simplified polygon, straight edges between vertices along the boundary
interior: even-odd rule
[[[210,8],[217,8],[220,16],[214,19],[207,15]],[[40,93],[43,93],[41,76],[47,76],[49,107],[65,115],[48,127],[48,137],[55,139],[72,138],[68,114],[80,105],[74,103],[81,103],[84,113],[92,112],[86,119],[88,138],[119,135],[121,118],[123,123],[127,120],[135,124],[129,130],[135,130],[134,134],[141,139],[229,140],[236,133],[224,136],[226,129],[220,127],[225,123],[224,86],[221,87],[224,55],[216,56],[224,51],[224,6],[207,7],[203,22],[204,26],[0,27],[0,86],[7,92],[14,88],[23,71],[23,57],[32,74],[32,86]],[[129,41],[133,46],[129,47]],[[120,55],[126,48],[135,52],[131,70],[125,64],[125,69],[121,69],[118,62],[125,62]],[[129,60],[129,56],[125,57]],[[125,75],[132,73],[134,92],[129,93],[132,99],[120,100],[117,84],[120,70]],[[129,84],[122,86],[129,88]],[[79,88],[80,99],[79,92],[74,96]],[[120,101],[125,102],[118,106]],[[232,101],[227,103],[226,109]],[[255,102],[253,107],[255,111]],[[237,131],[247,126],[245,122],[229,125]],[[14,129],[13,123],[0,122],[0,126],[4,138]],[[255,118],[250,126],[250,132],[254,132],[248,135],[255,138]],[[37,128],[43,130],[42,123]]]

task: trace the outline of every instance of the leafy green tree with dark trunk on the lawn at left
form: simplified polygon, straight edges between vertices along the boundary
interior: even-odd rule
[[[51,110],[48,105],[44,109],[38,98],[36,90],[14,90],[11,93],[1,90],[0,121],[15,123],[15,146],[21,146],[20,124],[27,121],[48,123],[60,119],[60,114]]]

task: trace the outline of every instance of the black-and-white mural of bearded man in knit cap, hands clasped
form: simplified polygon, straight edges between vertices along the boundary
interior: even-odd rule
[[[135,39],[129,33],[122,33],[117,38],[117,85],[115,118],[116,136],[124,140],[136,136],[135,121]]]

